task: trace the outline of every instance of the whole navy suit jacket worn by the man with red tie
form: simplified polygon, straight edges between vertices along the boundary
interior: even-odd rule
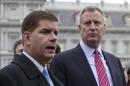
[[[124,72],[119,59],[103,51],[113,80],[113,86],[126,86]],[[56,55],[52,73],[65,86],[97,86],[96,79],[80,45]]]

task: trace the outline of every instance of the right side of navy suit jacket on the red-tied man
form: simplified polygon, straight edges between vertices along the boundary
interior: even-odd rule
[[[120,59],[105,51],[103,51],[103,55],[110,70],[114,86],[126,86],[125,75]]]

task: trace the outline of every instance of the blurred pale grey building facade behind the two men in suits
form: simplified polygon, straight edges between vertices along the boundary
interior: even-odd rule
[[[59,2],[55,0],[0,0],[0,68],[13,58],[13,45],[21,39],[24,17],[34,10],[46,10],[60,21],[58,43],[62,51],[75,47],[80,41],[79,14],[86,6],[98,6],[104,11],[106,33],[101,46],[120,57],[124,66],[130,64],[130,5],[122,4]]]

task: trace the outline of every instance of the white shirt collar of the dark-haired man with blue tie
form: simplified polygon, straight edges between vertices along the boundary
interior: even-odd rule
[[[34,65],[38,68],[38,70],[42,73],[43,70],[46,68],[43,67],[41,64],[39,64],[39,62],[37,60],[35,60],[32,56],[30,56],[28,53],[26,53],[25,51],[22,52],[25,56],[27,56],[28,59],[30,59]],[[47,69],[47,68],[46,68]]]

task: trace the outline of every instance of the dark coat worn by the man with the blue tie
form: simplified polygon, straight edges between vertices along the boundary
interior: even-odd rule
[[[63,86],[50,72],[55,86]],[[11,64],[0,70],[0,86],[49,86],[37,67],[24,55],[16,55]]]

